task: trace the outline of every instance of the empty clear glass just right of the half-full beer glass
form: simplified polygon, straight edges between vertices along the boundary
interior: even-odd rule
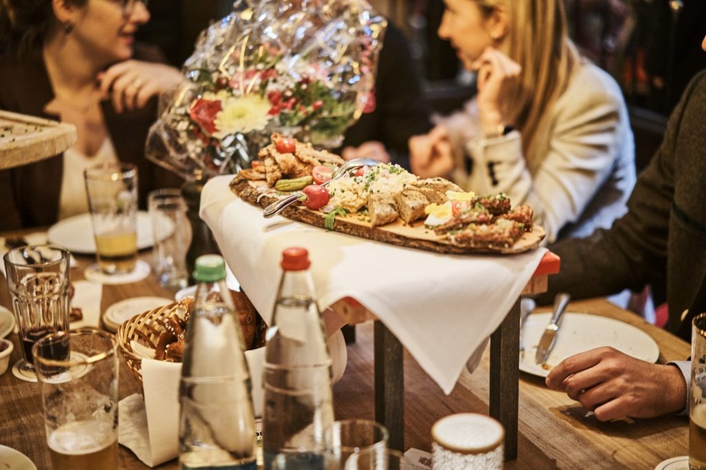
[[[191,224],[181,190],[157,189],[148,195],[148,209],[155,236],[155,272],[160,284],[186,287],[186,251],[191,243]]]

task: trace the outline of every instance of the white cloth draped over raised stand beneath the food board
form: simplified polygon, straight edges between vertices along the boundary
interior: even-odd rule
[[[443,255],[367,241],[276,216],[240,200],[232,176],[211,179],[201,218],[254,306],[269,322],[282,250],[309,250],[318,304],[351,296],[392,331],[450,393],[466,361],[496,330],[546,253]]]

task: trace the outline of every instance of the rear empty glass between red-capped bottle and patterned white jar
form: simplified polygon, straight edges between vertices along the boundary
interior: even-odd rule
[[[341,464],[355,452],[373,447],[388,447],[389,433],[385,426],[369,419],[334,421],[323,431],[326,450],[333,452]]]

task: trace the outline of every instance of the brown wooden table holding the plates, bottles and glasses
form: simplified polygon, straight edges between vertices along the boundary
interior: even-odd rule
[[[150,260],[151,253],[141,257]],[[72,270],[73,279],[83,279],[85,266],[92,257],[77,257],[79,267]],[[174,291],[157,285],[154,277],[143,282],[121,286],[105,286],[103,310],[112,303],[134,296],[170,297]],[[10,308],[6,282],[0,279],[0,305]],[[603,300],[573,303],[573,311],[599,313],[632,323],[654,337],[664,360],[686,358],[688,344],[669,333],[652,327],[636,315],[621,311]],[[373,327],[359,326],[356,344],[349,346],[349,362],[342,380],[334,387],[337,418],[373,418]],[[17,346],[16,335],[12,336]],[[16,347],[11,363],[20,358]],[[407,447],[429,450],[431,425],[448,414],[474,411],[488,413],[489,383],[491,382],[490,354],[486,351],[479,370],[463,376],[468,388],[457,385],[450,396],[445,396],[414,362],[405,354],[404,439]],[[493,373],[498,373],[495,367]],[[121,361],[120,398],[140,391],[138,382]],[[583,418],[580,406],[566,395],[546,390],[543,381],[530,375],[520,376],[520,421],[517,461],[508,462],[508,469],[554,468],[654,468],[657,462],[688,452],[688,421],[668,416],[650,421],[598,423]],[[510,384],[512,385],[512,384]],[[517,385],[517,382],[515,382]],[[23,452],[39,469],[49,468],[49,454],[44,438],[44,422],[40,402],[40,386],[22,382],[11,372],[0,376],[0,444]],[[121,469],[146,467],[125,447],[119,446]],[[167,462],[157,467],[176,469],[177,463]]]

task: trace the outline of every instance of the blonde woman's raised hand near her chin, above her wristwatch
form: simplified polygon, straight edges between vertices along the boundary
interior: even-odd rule
[[[487,47],[472,67],[478,71],[481,131],[493,135],[502,124],[513,124],[515,116],[507,97],[517,87],[522,68],[493,47]]]

